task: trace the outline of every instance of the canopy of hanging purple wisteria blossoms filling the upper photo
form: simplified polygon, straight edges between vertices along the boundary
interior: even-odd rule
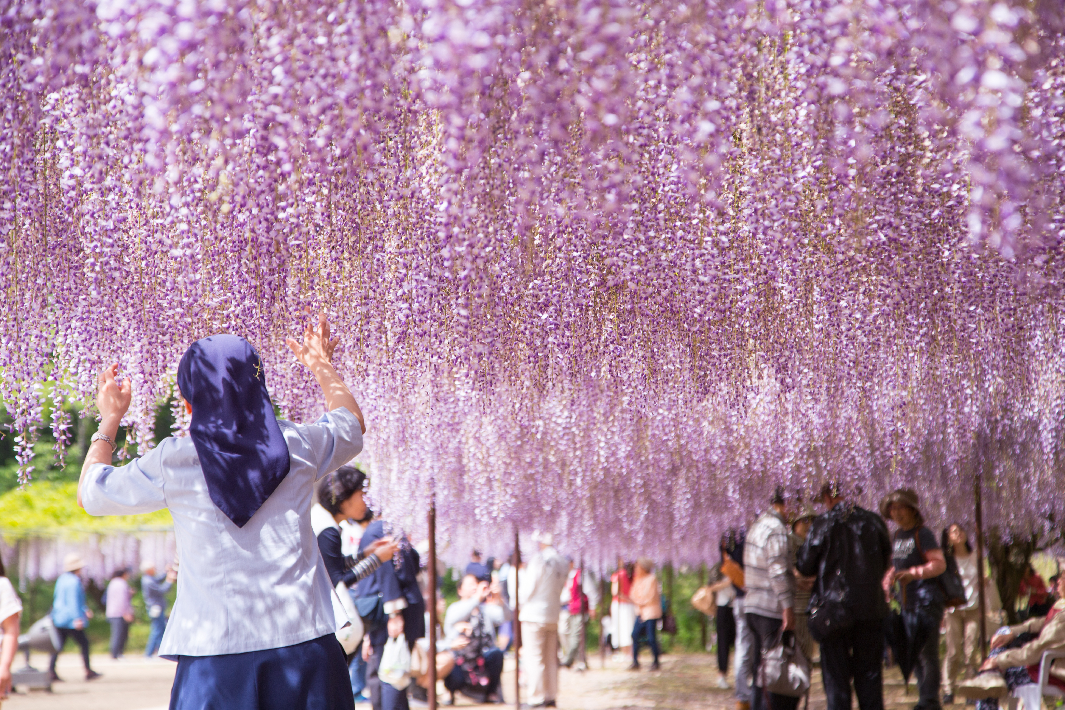
[[[120,362],[146,444],[216,332],[314,418],[322,310],[405,530],[697,560],[779,483],[966,518],[977,472],[1060,522],[1053,4],[0,0],[22,462],[42,382]]]

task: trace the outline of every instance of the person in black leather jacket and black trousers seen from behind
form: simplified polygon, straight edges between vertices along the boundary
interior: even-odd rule
[[[891,563],[884,521],[843,500],[838,483],[821,489],[825,513],[799,548],[796,568],[816,576],[810,607],[846,599],[853,623],[821,642],[821,675],[828,710],[850,710],[851,680],[861,710],[883,710],[881,674],[887,602],[881,580]]]

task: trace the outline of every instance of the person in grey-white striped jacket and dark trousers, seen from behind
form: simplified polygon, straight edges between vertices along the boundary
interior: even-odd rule
[[[750,627],[754,690],[752,710],[794,710],[798,697],[771,693],[758,686],[761,654],[776,645],[782,631],[794,628],[796,578],[788,542],[787,505],[777,489],[770,508],[755,521],[743,546],[743,610]]]

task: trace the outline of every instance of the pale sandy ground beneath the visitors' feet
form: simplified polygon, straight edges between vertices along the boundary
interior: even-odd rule
[[[662,657],[661,671],[627,671],[629,659],[616,656],[601,667],[597,656],[589,659],[591,668],[578,673],[562,670],[559,675],[558,707],[561,710],[735,710],[732,690],[717,688],[714,657],[706,655]],[[45,656],[35,655],[33,664],[47,666]],[[15,667],[21,665],[21,657]],[[113,661],[105,656],[94,656],[93,666],[103,677],[92,682],[83,680],[84,671],[80,657],[66,653],[60,657],[58,672],[65,678],[55,683],[52,693],[32,691],[12,695],[3,703],[3,710],[165,710],[170,697],[176,665],[169,661],[145,660],[131,656]],[[513,660],[504,666],[503,688],[509,707],[513,707]],[[731,680],[731,678],[730,678]],[[440,687],[443,691],[443,686]],[[897,670],[890,670],[884,679],[885,710],[910,710],[917,701],[913,686],[906,696]],[[441,694],[443,707],[448,696]],[[523,690],[524,699],[524,690]],[[472,706],[459,695],[459,706]],[[495,707],[501,706],[486,706]],[[821,674],[814,672],[814,688],[809,710],[824,710]],[[370,705],[359,705],[358,710],[368,710]],[[955,706],[963,710],[964,706]],[[800,710],[803,710],[800,706]]]

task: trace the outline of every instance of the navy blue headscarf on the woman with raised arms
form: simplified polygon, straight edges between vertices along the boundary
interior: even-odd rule
[[[193,406],[189,433],[211,500],[243,528],[289,474],[262,360],[243,337],[204,337],[182,356],[178,386]]]

